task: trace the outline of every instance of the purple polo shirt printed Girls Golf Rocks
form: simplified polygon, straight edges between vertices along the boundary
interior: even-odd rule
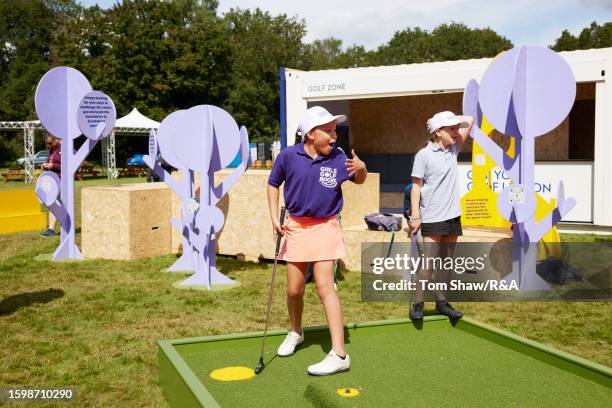
[[[268,184],[285,183],[285,207],[296,217],[327,218],[342,210],[342,183],[349,178],[346,154],[334,148],[327,156],[311,158],[298,143],[283,149],[272,166]]]

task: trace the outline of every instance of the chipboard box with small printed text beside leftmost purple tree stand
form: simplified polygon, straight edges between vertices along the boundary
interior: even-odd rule
[[[171,191],[164,183],[81,190],[86,258],[132,260],[171,252]]]

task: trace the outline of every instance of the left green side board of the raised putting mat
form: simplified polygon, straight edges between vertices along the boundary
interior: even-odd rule
[[[171,340],[159,340],[159,385],[169,407],[220,408],[213,396],[174,349]]]

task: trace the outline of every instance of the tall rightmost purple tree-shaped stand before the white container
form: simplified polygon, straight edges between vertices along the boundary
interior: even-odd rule
[[[463,112],[477,123],[470,135],[512,179],[499,194],[497,207],[514,224],[512,273],[505,280],[518,282],[521,292],[550,289],[536,273],[537,243],[576,205],[565,198],[559,183],[557,207],[535,219],[535,138],[567,117],[575,97],[576,81],[565,60],[548,48],[531,46],[495,58],[480,86],[471,80],[463,95]],[[480,130],[483,115],[495,129],[515,138],[514,157]]]

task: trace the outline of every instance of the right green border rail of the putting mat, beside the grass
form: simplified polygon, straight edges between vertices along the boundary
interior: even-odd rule
[[[612,369],[604,365],[466,317],[455,328],[612,389]]]

